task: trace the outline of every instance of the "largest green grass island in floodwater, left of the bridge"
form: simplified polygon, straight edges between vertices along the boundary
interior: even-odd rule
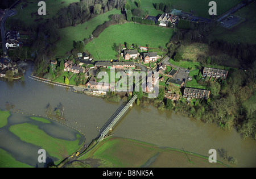
[[[62,155],[62,153],[65,153],[64,150],[67,150],[68,155],[71,155],[80,147],[81,136],[78,134],[77,139],[74,141],[57,139],[30,123],[15,124],[9,130],[18,136],[20,140],[42,147],[49,155],[59,160],[64,159]]]

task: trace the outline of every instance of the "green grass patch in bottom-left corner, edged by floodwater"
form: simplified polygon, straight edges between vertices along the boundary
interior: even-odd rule
[[[28,164],[21,163],[20,161],[16,161],[10,153],[0,148],[0,168],[32,168]]]

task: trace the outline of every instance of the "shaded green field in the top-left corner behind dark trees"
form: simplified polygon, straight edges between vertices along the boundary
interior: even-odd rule
[[[35,22],[35,19],[43,18],[43,20],[51,19],[56,13],[64,7],[69,6],[69,4],[73,2],[80,2],[79,0],[46,0],[46,15],[38,15],[38,9],[40,6],[38,6],[39,1],[34,0],[27,0],[27,2],[22,2],[18,6],[16,6],[15,10],[17,11],[17,14],[14,15],[11,18],[18,18],[20,20],[23,20],[24,23],[28,26],[31,26],[33,24],[36,24],[38,22]],[[64,2],[64,3],[63,3]],[[20,5],[24,6],[27,4],[27,7],[24,7],[23,9],[20,8]],[[34,13],[33,16],[31,16],[31,13]],[[11,19],[10,18],[10,19]],[[42,22],[42,21],[40,21]]]

